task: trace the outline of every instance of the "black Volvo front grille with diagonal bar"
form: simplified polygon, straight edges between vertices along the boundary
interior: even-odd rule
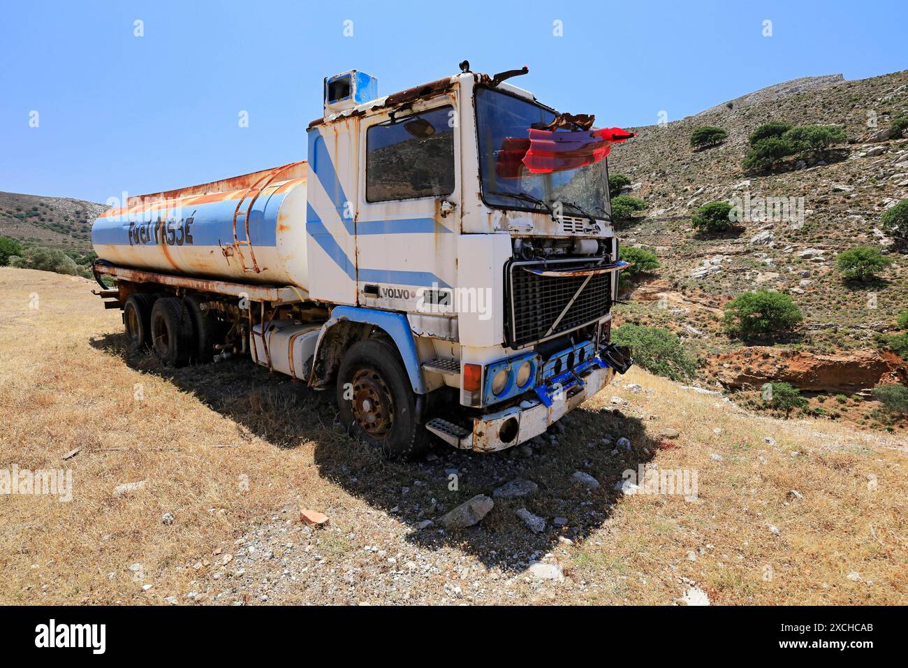
[[[548,269],[561,269],[558,264],[548,263]],[[612,274],[594,274],[583,290],[577,290],[587,280],[584,275],[540,276],[525,270],[541,269],[542,263],[512,263],[508,267],[508,304],[506,330],[508,344],[518,348],[536,343],[585,324],[595,322],[608,313],[611,305]],[[576,265],[571,269],[582,269]],[[552,324],[564,311],[570,300],[577,294],[574,303],[558,324],[549,332]]]

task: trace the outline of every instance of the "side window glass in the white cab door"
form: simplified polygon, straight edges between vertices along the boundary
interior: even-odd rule
[[[454,192],[452,106],[373,125],[366,130],[366,201]]]

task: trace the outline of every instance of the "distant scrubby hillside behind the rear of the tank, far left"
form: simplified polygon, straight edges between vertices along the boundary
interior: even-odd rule
[[[92,250],[92,222],[107,208],[71,197],[0,193],[0,236],[87,253]]]

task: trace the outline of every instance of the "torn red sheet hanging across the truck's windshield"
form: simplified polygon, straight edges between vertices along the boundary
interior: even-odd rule
[[[508,137],[498,152],[495,172],[518,178],[521,167],[531,174],[566,172],[604,160],[612,145],[635,136],[619,127],[575,132],[528,130],[527,138]]]

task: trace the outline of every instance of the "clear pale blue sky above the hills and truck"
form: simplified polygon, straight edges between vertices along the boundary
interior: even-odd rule
[[[7,3],[0,190],[104,202],[299,160],[322,77],[351,68],[384,95],[464,58],[528,65],[514,83],[597,125],[675,120],[799,76],[904,69],[903,14],[889,0]]]

